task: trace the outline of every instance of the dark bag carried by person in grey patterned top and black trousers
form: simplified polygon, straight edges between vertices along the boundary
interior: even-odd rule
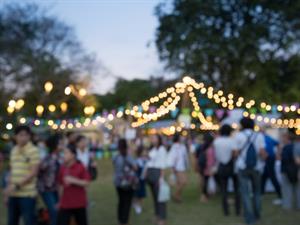
[[[120,187],[122,189],[137,189],[139,179],[132,165],[127,162],[126,157],[123,158],[122,174],[120,175]]]

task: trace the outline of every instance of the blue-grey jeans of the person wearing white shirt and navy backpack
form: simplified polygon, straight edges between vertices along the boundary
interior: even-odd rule
[[[241,170],[238,173],[240,193],[246,224],[254,224],[261,213],[261,175],[256,170]]]

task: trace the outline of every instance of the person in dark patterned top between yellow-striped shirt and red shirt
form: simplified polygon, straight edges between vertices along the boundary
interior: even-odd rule
[[[55,225],[57,217],[56,206],[58,203],[57,175],[60,167],[59,153],[63,149],[63,140],[61,136],[56,134],[47,139],[46,145],[48,155],[39,166],[37,187],[48,209],[51,225]]]

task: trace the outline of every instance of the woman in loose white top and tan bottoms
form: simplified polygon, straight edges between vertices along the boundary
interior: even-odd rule
[[[187,183],[186,170],[188,168],[188,152],[184,144],[180,143],[180,135],[175,134],[173,145],[168,154],[168,163],[176,175],[176,191],[173,195],[175,202],[181,202],[181,194]]]

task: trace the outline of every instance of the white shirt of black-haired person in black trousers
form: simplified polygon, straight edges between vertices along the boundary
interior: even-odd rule
[[[233,150],[238,150],[237,143],[232,137],[220,136],[214,140],[217,163],[227,164],[232,158]]]

